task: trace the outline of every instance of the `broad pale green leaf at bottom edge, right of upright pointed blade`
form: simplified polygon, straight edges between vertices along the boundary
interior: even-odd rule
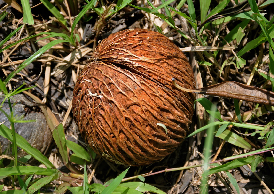
[[[165,194],[165,192],[161,191],[160,189],[157,189],[156,187],[144,182],[125,182],[125,183],[119,184],[119,186],[129,187],[142,193],[153,192],[158,194]]]

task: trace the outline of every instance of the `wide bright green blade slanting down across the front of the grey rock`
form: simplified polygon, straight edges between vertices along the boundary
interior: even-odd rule
[[[4,138],[12,141],[12,130],[10,130],[4,124],[0,125],[0,135]],[[20,136],[19,134],[15,134],[16,137],[16,144],[23,149],[25,152],[30,154],[33,158],[44,164],[46,167],[55,168],[53,164],[45,157],[39,150],[33,148],[24,137]],[[1,175],[1,173],[0,173]]]

